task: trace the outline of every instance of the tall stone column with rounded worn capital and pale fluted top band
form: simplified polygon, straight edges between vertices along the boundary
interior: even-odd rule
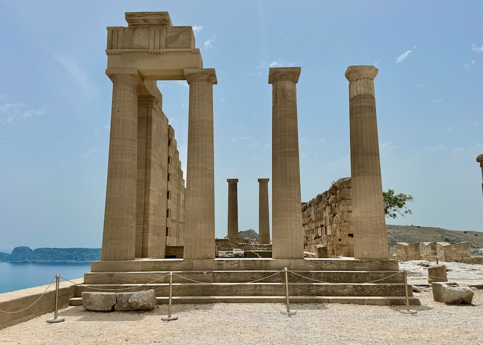
[[[387,260],[389,253],[374,98],[377,71],[374,66],[349,66],[345,74],[349,80],[354,257]]]

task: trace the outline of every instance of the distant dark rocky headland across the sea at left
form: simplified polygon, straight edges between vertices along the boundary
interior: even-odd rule
[[[15,263],[90,263],[101,257],[101,248],[15,247],[11,254],[0,252],[0,261]]]

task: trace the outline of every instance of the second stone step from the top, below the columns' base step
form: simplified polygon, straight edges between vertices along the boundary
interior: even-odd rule
[[[176,274],[189,279],[207,283],[241,283],[263,279],[279,271],[188,271],[175,272]],[[379,280],[380,283],[403,283],[403,274],[394,275],[397,272],[388,271],[295,271],[295,273],[308,278],[302,278],[291,272],[288,279],[291,282],[312,282],[315,279],[330,283],[366,283]],[[166,276],[168,271],[158,272],[94,272],[84,275],[84,284],[145,284],[145,283],[169,283],[170,277]],[[163,276],[166,276],[162,278]],[[386,278],[389,277],[389,278]],[[384,279],[386,278],[386,279]],[[263,280],[264,283],[283,282],[284,272],[275,274]],[[173,275],[174,283],[188,282],[185,279]]]

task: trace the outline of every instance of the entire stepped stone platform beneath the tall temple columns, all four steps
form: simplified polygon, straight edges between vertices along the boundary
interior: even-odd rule
[[[82,304],[80,297],[83,291],[101,291],[94,288],[115,291],[129,286],[132,289],[122,291],[154,289],[157,302],[167,303],[170,277],[165,275],[170,271],[176,273],[173,276],[174,303],[283,302],[285,273],[277,272],[285,267],[295,273],[288,273],[289,295],[293,302],[405,303],[404,276],[394,275],[398,272],[397,261],[354,260],[349,257],[97,261],[91,264],[91,273],[85,274],[84,284],[76,288],[70,303]],[[275,275],[262,280],[272,274]],[[375,280],[377,282],[373,282]],[[246,282],[250,283],[239,284]],[[412,297],[411,287],[409,291],[410,303],[419,305],[419,300]]]

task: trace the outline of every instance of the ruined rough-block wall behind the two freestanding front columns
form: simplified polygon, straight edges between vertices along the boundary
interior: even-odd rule
[[[302,225],[307,256],[354,256],[351,179],[337,180],[328,191],[304,204]]]

